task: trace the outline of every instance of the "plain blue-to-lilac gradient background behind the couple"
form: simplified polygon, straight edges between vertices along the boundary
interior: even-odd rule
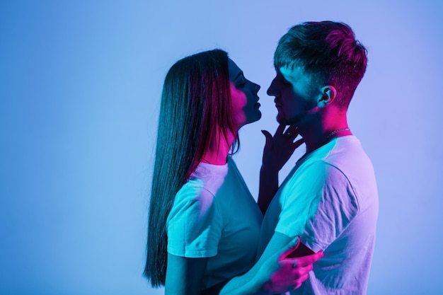
[[[349,115],[379,183],[368,293],[441,294],[442,2],[158,2],[0,2],[0,294],[163,294],[142,269],[166,71],[221,47],[260,83],[235,157],[257,195],[277,40],[326,19],[369,50]]]

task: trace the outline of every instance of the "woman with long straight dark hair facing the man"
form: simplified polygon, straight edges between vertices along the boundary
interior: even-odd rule
[[[185,57],[166,75],[144,270],[166,294],[200,294],[254,265],[263,214],[229,154],[238,129],[261,117],[259,89],[222,50]],[[292,266],[277,260],[277,270]],[[255,287],[272,286],[275,269]]]

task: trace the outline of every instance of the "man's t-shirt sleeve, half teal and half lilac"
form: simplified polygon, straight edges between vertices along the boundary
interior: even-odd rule
[[[275,231],[299,236],[301,243],[317,252],[343,233],[356,216],[358,204],[349,180],[338,168],[317,161],[304,169],[303,177],[288,183],[282,192]]]

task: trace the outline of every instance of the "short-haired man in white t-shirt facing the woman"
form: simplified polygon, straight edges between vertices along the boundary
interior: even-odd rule
[[[366,71],[366,49],[344,23],[301,23],[280,39],[274,63],[277,75],[267,93],[275,96],[280,127],[274,137],[263,132],[259,198],[263,207],[270,204],[259,259],[219,294],[265,292],[255,283],[263,281],[273,290],[295,289],[291,294],[366,294],[378,194],[372,163],[347,125],[347,108]],[[306,154],[279,188],[278,171],[299,146],[293,143],[298,134]],[[290,257],[323,251],[309,279],[287,288],[288,277],[263,278],[270,258],[296,237],[300,244]]]

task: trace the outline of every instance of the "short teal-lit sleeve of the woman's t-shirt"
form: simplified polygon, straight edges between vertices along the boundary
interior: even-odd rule
[[[223,220],[217,199],[203,187],[185,185],[168,216],[168,253],[188,258],[217,255]]]

